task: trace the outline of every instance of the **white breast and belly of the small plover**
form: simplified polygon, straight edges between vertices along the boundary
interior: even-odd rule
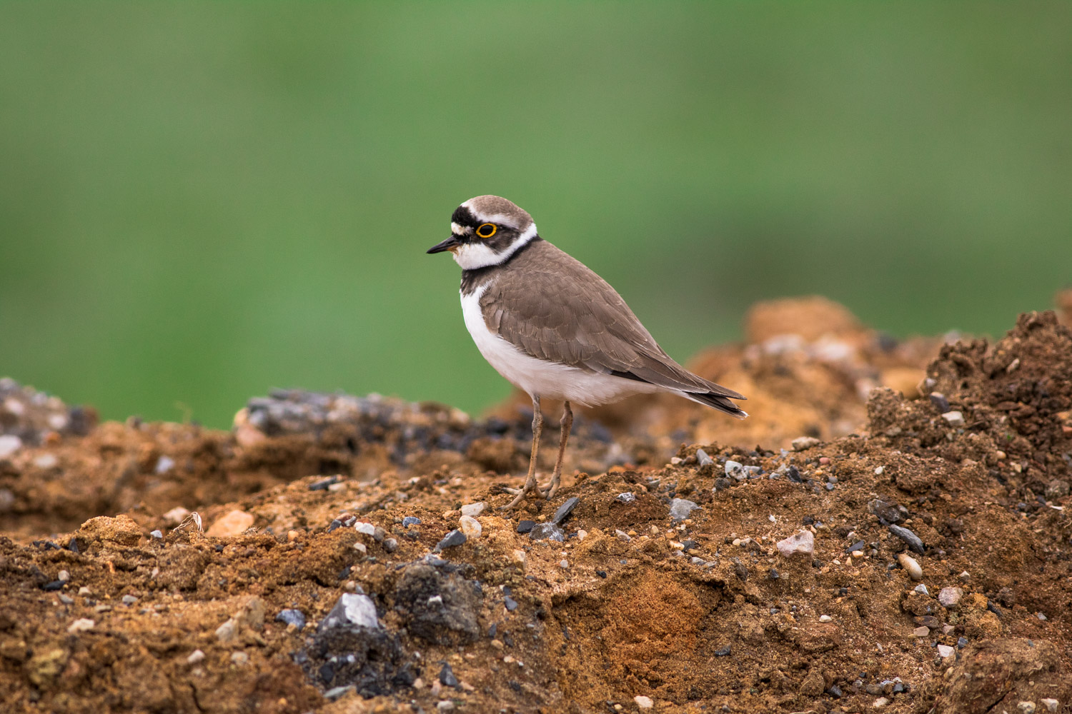
[[[525,354],[488,330],[480,313],[480,295],[487,288],[485,285],[471,295],[462,295],[465,326],[483,359],[511,384],[524,390],[530,396],[568,399],[582,407],[594,407],[638,392],[658,391],[657,386],[646,382],[600,375]]]

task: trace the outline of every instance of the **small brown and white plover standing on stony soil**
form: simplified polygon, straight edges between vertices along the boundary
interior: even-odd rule
[[[622,297],[584,263],[544,240],[526,211],[477,196],[450,217],[450,252],[462,269],[462,316],[477,349],[533,402],[528,475],[504,510],[536,491],[554,497],[572,429],[570,405],[595,407],[639,393],[669,392],[744,419],[745,399],[694,375],[666,353]],[[563,401],[559,456],[546,488],[536,485],[544,416],[540,399]]]

